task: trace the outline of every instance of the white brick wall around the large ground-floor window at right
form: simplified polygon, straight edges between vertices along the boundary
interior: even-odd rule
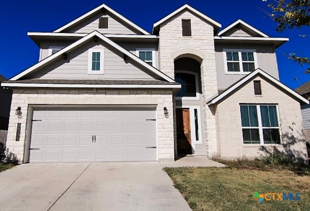
[[[253,80],[261,80],[262,96],[255,96],[254,85],[250,81],[217,105],[219,155],[222,158],[260,156],[263,150],[260,150],[259,145],[243,144],[239,103],[275,103],[278,104],[282,135],[282,145],[277,145],[277,148],[296,159],[305,160],[306,146],[299,102],[259,76]]]

